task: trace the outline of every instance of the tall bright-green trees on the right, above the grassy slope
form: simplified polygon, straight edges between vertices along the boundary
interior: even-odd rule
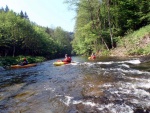
[[[150,25],[150,0],[66,0],[66,3],[77,13],[72,42],[77,54],[109,52],[126,35]]]

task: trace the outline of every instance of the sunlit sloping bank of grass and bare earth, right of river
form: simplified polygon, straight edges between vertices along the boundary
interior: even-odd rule
[[[150,25],[117,39],[117,47],[110,53],[112,56],[150,55]]]

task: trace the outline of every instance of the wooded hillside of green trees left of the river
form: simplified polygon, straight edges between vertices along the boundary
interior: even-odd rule
[[[73,33],[31,22],[27,13],[0,9],[0,56],[43,56],[47,59],[71,54]]]

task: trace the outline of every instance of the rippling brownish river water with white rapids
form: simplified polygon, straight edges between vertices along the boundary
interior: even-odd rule
[[[0,113],[150,113],[150,62],[72,59],[0,72]]]

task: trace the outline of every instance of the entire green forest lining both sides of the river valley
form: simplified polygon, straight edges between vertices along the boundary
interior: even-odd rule
[[[150,25],[150,0],[65,0],[76,11],[74,33],[43,27],[0,9],[0,56],[64,57],[117,48],[125,35]]]

